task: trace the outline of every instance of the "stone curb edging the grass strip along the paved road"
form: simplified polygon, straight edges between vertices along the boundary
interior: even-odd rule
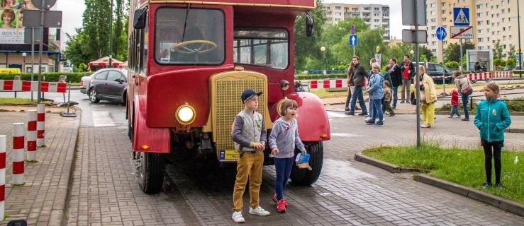
[[[369,165],[373,165],[375,167],[379,167],[381,169],[386,169],[387,171],[393,172],[393,173],[418,171],[418,169],[398,167],[397,165],[393,165],[389,162],[383,162],[381,160],[376,160],[372,157],[367,157],[365,155],[362,155],[361,153],[355,154],[355,160],[359,162],[367,163]],[[410,171],[403,171],[403,170],[410,170]],[[430,177],[425,174],[415,174],[413,176],[413,180],[417,182],[422,182],[424,184],[429,184],[431,186],[436,186],[437,188],[445,189],[447,191],[451,191],[455,194],[459,194],[467,198],[472,198],[476,201],[480,201],[482,203],[489,204],[496,208],[506,210],[510,213],[519,215],[520,217],[524,218],[524,205],[508,200],[506,198],[494,196],[484,191],[479,191],[479,190],[468,188],[466,186],[462,186],[462,185],[455,184],[452,182],[447,182],[443,179],[437,179],[435,177]]]

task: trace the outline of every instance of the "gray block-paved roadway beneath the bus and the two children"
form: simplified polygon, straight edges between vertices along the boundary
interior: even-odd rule
[[[396,120],[401,124],[401,117]],[[347,161],[362,143],[377,144],[369,137],[382,134],[376,130],[394,133],[394,127],[359,128],[362,117],[333,119],[335,124],[347,129],[333,126],[333,131],[357,129],[359,136],[326,142],[320,179],[311,187],[289,184],[284,214],[271,199],[274,167],[264,167],[260,205],[272,214],[249,215],[245,194],[247,225],[524,225],[520,217],[415,182],[410,174]],[[125,129],[86,127],[79,134],[67,225],[236,225],[230,220],[234,170],[169,166],[165,191],[150,196],[140,191],[132,173]]]

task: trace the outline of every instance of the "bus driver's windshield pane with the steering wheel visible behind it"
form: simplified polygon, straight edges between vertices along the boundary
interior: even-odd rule
[[[159,64],[217,65],[224,61],[224,13],[208,8],[159,8],[155,60]]]

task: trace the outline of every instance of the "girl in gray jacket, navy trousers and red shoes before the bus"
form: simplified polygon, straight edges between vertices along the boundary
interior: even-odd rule
[[[275,194],[273,201],[277,202],[277,211],[286,212],[287,202],[284,199],[284,187],[291,174],[296,148],[306,153],[306,148],[299,138],[299,126],[296,123],[296,104],[295,100],[284,100],[278,107],[280,118],[273,124],[271,135],[269,135],[269,145],[271,154],[274,155],[274,168],[277,172],[277,179],[274,182]]]

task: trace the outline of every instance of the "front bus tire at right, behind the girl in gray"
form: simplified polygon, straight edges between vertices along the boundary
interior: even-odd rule
[[[322,171],[324,145],[322,141],[304,143],[304,145],[306,145],[306,150],[310,155],[309,166],[311,166],[312,170],[300,169],[296,164],[293,164],[289,178],[291,178],[294,184],[311,186],[311,184],[315,183],[318,177],[320,177],[320,172]]]

